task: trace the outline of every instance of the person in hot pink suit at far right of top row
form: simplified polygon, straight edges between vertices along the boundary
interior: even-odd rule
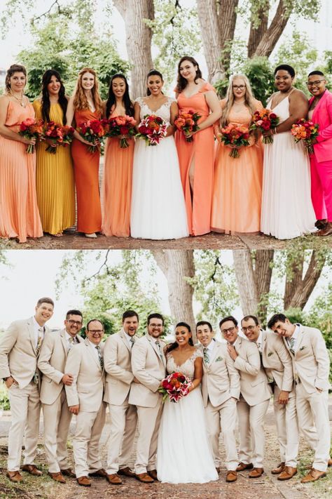
[[[312,71],[307,78],[312,94],[308,117],[319,124],[314,154],[310,156],[311,197],[316,213],[318,236],[332,234],[332,93],[326,89],[321,71]]]

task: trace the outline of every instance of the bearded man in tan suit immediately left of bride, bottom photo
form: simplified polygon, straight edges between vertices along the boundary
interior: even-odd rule
[[[162,413],[162,396],[158,388],[166,371],[165,343],[159,339],[163,328],[162,315],[150,314],[147,334],[136,340],[132,348],[132,373],[139,380],[139,383],[132,383],[129,396],[129,404],[137,406],[139,430],[135,474],[146,484],[157,479],[155,459]]]

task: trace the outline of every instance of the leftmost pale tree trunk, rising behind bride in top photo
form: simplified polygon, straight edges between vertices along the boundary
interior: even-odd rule
[[[145,95],[146,74],[153,68],[151,55],[152,30],[144,19],[154,18],[153,0],[113,0],[125,21],[128,59],[132,65],[130,95]]]

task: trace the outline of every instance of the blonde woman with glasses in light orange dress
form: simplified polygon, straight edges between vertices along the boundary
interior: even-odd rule
[[[258,109],[247,76],[235,74],[230,78],[226,99],[221,100],[221,127],[232,123],[248,126]],[[217,128],[216,135],[219,134]],[[263,182],[263,146],[254,135],[249,146],[240,147],[240,157],[230,157],[230,147],[218,138],[214,171],[211,229],[226,234],[259,233]]]

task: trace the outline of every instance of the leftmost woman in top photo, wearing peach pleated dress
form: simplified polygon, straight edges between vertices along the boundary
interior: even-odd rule
[[[0,97],[0,237],[42,237],[36,198],[36,154],[27,154],[20,124],[34,118],[34,108],[23,95],[27,72],[12,65],[6,74],[6,94]]]

